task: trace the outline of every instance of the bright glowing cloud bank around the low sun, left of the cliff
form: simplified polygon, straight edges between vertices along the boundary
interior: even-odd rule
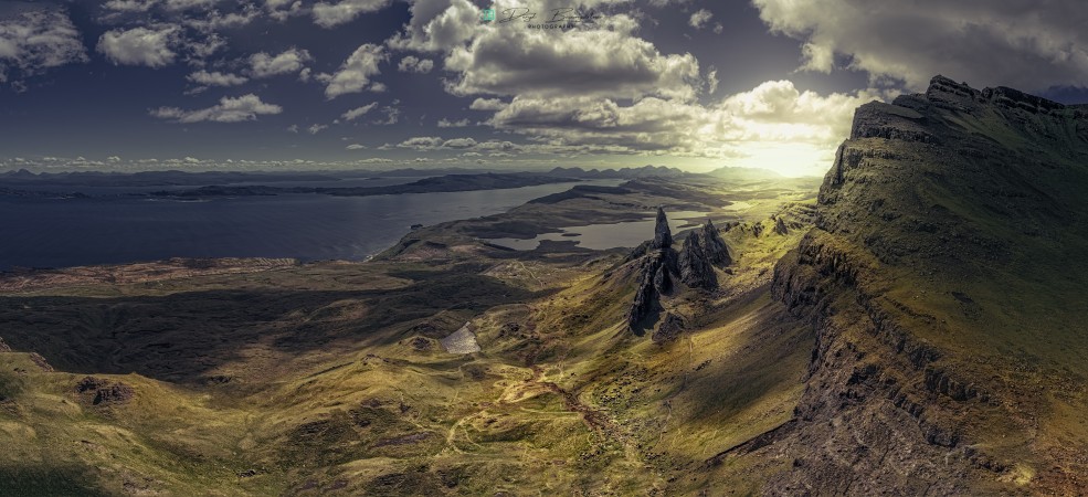
[[[848,136],[854,109],[874,96],[820,95],[775,81],[709,106],[658,97],[630,105],[594,97],[515,97],[487,124],[532,137],[534,145],[520,146],[528,151],[717,158],[817,175]]]

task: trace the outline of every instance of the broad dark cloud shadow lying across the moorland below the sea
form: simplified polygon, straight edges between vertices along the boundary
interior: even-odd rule
[[[0,337],[61,371],[136,372],[204,382],[245,360],[254,346],[303,355],[359,348],[420,332],[443,314],[460,327],[487,308],[537,294],[471,271],[412,272],[414,283],[383,290],[214,289],[119,298],[0,297]],[[430,334],[446,331],[431,326]],[[455,328],[454,328],[455,329]],[[453,329],[448,330],[452,331]]]

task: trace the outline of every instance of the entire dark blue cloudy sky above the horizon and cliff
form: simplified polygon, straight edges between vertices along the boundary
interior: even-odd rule
[[[820,176],[854,108],[936,74],[1088,102],[1085,25],[1080,0],[4,0],[0,171]]]

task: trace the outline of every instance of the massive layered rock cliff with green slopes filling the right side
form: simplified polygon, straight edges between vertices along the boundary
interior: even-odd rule
[[[773,296],[814,327],[781,495],[1088,488],[1088,108],[937,76],[857,109]],[[720,454],[716,462],[731,454]]]

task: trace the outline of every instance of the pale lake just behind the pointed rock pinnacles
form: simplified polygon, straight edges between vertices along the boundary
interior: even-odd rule
[[[708,214],[708,212],[699,211],[665,211],[665,215],[668,218],[668,228],[673,230],[673,234],[682,229],[701,226]],[[647,211],[646,219],[642,221],[567,226],[561,228],[559,233],[542,233],[532,239],[488,239],[487,241],[519,251],[531,251],[543,240],[577,242],[580,247],[603,251],[616,247],[634,247],[646,240],[653,240],[656,223],[656,213]]]

